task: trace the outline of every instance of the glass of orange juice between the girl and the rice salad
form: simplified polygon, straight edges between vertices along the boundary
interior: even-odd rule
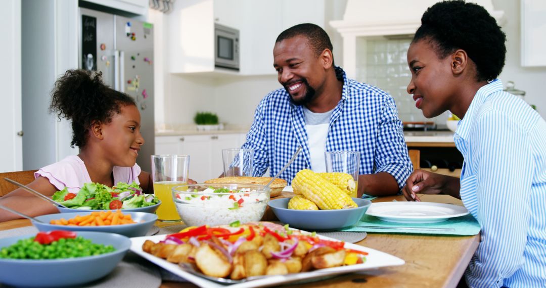
[[[187,184],[189,155],[152,155],[153,194],[161,200],[157,218],[164,222],[181,221],[171,189]]]

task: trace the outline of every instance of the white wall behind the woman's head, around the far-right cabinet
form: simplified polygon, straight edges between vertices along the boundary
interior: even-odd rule
[[[526,92],[525,101],[535,104],[537,111],[546,118],[546,92],[543,83],[546,81],[546,67],[521,67],[521,31],[520,0],[492,0],[495,10],[505,11],[506,64],[500,79],[514,81],[515,88]],[[546,17],[546,15],[544,15]],[[546,37],[546,35],[544,35]],[[544,51],[546,53],[546,51]]]

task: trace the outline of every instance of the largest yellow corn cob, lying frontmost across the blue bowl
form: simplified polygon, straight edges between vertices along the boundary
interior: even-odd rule
[[[304,169],[292,180],[295,194],[302,194],[323,210],[358,207],[357,203],[336,185],[317,173]]]

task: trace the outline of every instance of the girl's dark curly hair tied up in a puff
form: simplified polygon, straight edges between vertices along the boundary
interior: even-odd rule
[[[93,123],[110,123],[121,107],[136,105],[129,95],[104,85],[101,76],[87,70],[68,70],[55,82],[49,110],[59,119],[72,121],[72,148],[85,146]]]

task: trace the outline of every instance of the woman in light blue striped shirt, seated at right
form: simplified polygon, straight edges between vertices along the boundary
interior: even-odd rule
[[[455,145],[458,178],[417,170],[403,194],[460,197],[482,227],[465,273],[471,287],[546,283],[546,122],[502,91],[506,37],[477,4],[445,1],[422,17],[408,49],[413,94],[425,117],[449,110],[462,120]]]

